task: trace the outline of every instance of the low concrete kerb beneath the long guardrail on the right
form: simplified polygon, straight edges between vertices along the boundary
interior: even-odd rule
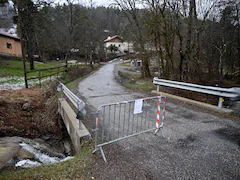
[[[211,109],[213,111],[217,111],[217,112],[221,112],[221,113],[232,113],[233,112],[233,110],[231,110],[231,109],[219,108],[218,106],[214,106],[214,105],[211,105],[211,104],[195,101],[195,100],[192,100],[192,99],[187,99],[187,98],[172,95],[172,94],[168,94],[168,93],[165,93],[165,92],[152,90],[151,93],[158,94],[158,95],[164,95],[164,96],[172,98],[172,99],[177,99],[179,101],[184,101],[184,102],[189,103],[189,104],[193,104],[193,105],[196,105],[196,106],[199,106],[199,107],[208,108],[208,109]]]

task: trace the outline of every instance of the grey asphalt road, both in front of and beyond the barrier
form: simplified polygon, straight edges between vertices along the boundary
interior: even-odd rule
[[[103,66],[79,84],[89,104],[145,97],[114,79],[114,64]],[[146,133],[104,147],[108,163],[96,155],[97,179],[240,179],[240,122],[167,101],[165,134]]]

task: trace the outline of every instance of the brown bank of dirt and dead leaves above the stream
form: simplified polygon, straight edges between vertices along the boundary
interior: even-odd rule
[[[61,139],[57,104],[51,89],[38,87],[0,91],[0,137]],[[46,121],[47,119],[47,121]]]

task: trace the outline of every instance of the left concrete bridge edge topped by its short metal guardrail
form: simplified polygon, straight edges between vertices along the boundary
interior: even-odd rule
[[[74,150],[78,153],[81,150],[80,146],[83,141],[91,138],[91,134],[82,123],[82,120],[86,115],[86,111],[84,109],[85,103],[62,83],[59,84],[58,91],[62,91],[66,97],[66,99],[58,99],[58,113],[62,116],[74,146]],[[75,113],[68,102],[73,104],[73,106],[77,109],[77,113]]]

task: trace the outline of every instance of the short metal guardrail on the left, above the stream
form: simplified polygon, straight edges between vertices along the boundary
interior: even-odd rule
[[[62,91],[65,96],[71,101],[71,103],[77,108],[77,119],[79,120],[79,129],[82,129],[82,119],[86,115],[86,110],[84,109],[85,103],[79,99],[72,91],[70,91],[64,84],[59,82],[57,86],[58,91]]]

